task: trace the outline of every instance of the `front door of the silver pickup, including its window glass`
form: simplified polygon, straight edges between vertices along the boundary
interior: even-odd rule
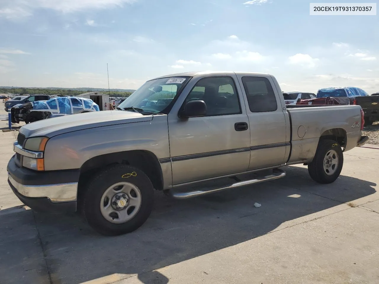
[[[205,117],[168,115],[174,185],[245,172],[250,161],[249,119],[235,75],[197,81],[184,104],[203,100]],[[246,125],[239,128],[238,125]]]

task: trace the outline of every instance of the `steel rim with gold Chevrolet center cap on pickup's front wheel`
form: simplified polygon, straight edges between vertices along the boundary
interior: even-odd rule
[[[108,187],[100,199],[100,212],[111,223],[122,224],[131,220],[142,204],[141,191],[132,183],[115,183]]]

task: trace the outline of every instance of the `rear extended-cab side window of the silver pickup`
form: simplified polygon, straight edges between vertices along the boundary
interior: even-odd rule
[[[247,103],[251,112],[276,111],[276,102],[273,87],[265,77],[242,77],[246,92]]]

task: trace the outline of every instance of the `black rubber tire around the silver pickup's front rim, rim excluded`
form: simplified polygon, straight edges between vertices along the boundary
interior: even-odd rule
[[[135,172],[135,176],[122,178],[126,173]],[[103,193],[113,184],[127,181],[138,187],[141,193],[141,207],[136,215],[125,223],[112,223],[106,220],[100,211]],[[151,213],[154,204],[154,190],[149,177],[141,170],[130,165],[111,165],[99,172],[86,186],[83,200],[83,213],[89,225],[104,236],[117,236],[135,231]]]

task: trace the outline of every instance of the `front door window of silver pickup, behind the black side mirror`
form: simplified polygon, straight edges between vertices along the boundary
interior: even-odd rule
[[[241,106],[234,80],[231,77],[208,77],[200,79],[189,92],[185,103],[203,100],[207,115],[240,114]]]

